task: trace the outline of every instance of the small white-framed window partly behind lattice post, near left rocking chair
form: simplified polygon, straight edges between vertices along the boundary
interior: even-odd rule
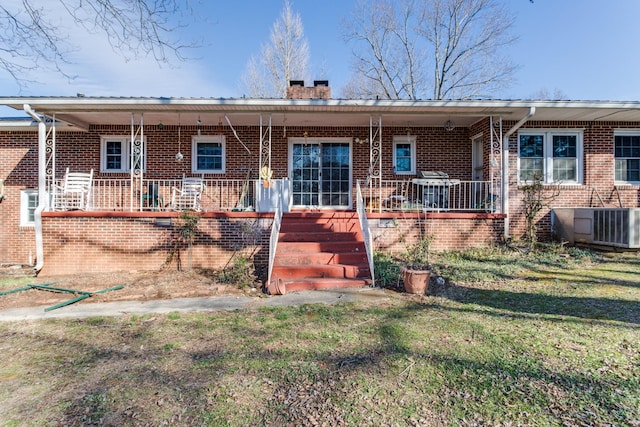
[[[145,169],[145,150],[140,150],[140,145],[131,150],[131,137],[128,136],[103,136],[100,139],[100,172],[130,172],[131,162],[135,162],[134,169]],[[133,154],[133,159],[132,159]]]

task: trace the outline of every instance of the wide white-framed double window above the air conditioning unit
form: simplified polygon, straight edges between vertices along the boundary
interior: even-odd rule
[[[582,182],[582,131],[525,130],[518,133],[518,180],[546,184]]]

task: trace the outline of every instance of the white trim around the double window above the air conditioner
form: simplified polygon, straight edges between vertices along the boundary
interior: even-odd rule
[[[520,136],[544,134],[543,147],[543,174],[544,184],[561,185],[583,185],[584,182],[584,129],[523,129],[518,131],[518,183],[527,184],[528,181],[520,179]],[[555,181],[553,179],[553,136],[554,135],[575,135],[576,136],[576,179],[575,181]]]

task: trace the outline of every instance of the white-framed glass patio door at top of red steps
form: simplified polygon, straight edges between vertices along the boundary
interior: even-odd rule
[[[348,143],[294,143],[291,146],[293,206],[347,209],[351,198]]]

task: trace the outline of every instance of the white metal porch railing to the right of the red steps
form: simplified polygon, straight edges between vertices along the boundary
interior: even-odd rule
[[[415,184],[411,180],[369,180],[362,189],[367,212],[488,212],[498,209],[491,181],[443,180]]]

